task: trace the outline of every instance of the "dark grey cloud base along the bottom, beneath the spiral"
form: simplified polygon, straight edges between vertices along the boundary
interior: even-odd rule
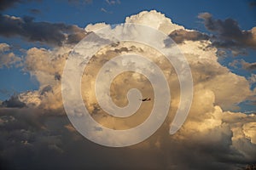
[[[62,111],[64,112],[64,111]],[[125,148],[94,144],[81,136],[65,114],[31,108],[0,108],[0,162],[4,169],[225,169],[253,161],[230,148],[232,133],[168,135],[168,123],[147,141]],[[156,143],[160,143],[157,145]],[[252,156],[251,156],[252,157]],[[256,158],[255,156],[253,158]]]

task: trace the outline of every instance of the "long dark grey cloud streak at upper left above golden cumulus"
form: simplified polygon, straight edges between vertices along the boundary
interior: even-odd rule
[[[32,17],[0,15],[0,35],[20,36],[29,42],[44,42],[61,46],[64,42],[79,42],[86,32],[78,26],[64,23],[35,22]]]

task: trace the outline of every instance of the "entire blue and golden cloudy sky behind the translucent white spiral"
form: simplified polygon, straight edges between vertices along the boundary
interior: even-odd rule
[[[188,62],[194,84],[193,100],[183,126],[170,135],[168,132],[182,98],[177,71],[183,67],[177,69],[169,65],[157,50],[138,42],[118,42],[101,48],[81,73],[81,96],[90,116],[103,127],[113,130],[136,127],[147,119],[155,101],[160,101],[160,108],[166,108],[163,105],[165,89],[157,87],[163,93],[159,100],[154,96],[154,84],[150,85],[147,77],[134,72],[122,73],[113,79],[111,101],[99,103],[94,92],[97,72],[106,60],[116,55],[127,54],[126,65],[136,65],[133,63],[136,60],[129,60],[130,53],[154,60],[160,65],[172,94],[171,101],[167,101],[170,107],[166,119],[152,136],[139,144],[112,148],[86,139],[69,119],[62,91],[65,86],[61,83],[68,57],[73,57],[74,63],[84,63],[79,60],[82,52],[76,45],[90,47],[86,41],[90,42],[93,32],[103,27],[107,32],[119,32],[119,26],[111,25],[121,23],[148,26],[149,30],[153,28],[172,38]],[[255,23],[254,0],[1,1],[1,169],[231,170],[255,164]],[[133,36],[134,32],[130,33]],[[145,41],[152,43],[160,39],[150,34],[146,37]],[[97,43],[96,47],[104,41],[100,39]],[[172,49],[170,44],[165,45]],[[83,51],[84,56],[90,49],[93,48]],[[143,68],[149,67],[141,64]],[[76,71],[78,67],[71,70]],[[112,67],[114,65],[110,70]],[[107,77],[110,73],[102,74]],[[73,82],[75,77],[65,80]],[[99,84],[101,89],[108,85],[103,79]],[[135,100],[126,99],[127,92],[134,87],[141,90],[141,97],[151,98],[140,105],[134,116],[123,119],[110,116],[102,109],[102,106],[108,109],[113,103],[124,107]],[[67,91],[69,94],[73,94],[72,91]],[[67,99],[78,114],[77,100],[73,96]],[[101,129],[92,131],[90,139],[101,138],[98,136]],[[136,133],[129,140],[142,136]],[[104,142],[119,144],[119,140],[125,139],[105,138]]]

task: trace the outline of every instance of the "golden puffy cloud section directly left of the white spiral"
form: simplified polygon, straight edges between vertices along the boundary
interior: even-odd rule
[[[24,71],[29,71],[32,77],[37,78],[40,88],[20,94],[20,101],[42,109],[61,109],[61,75],[70,51],[70,47],[27,50]]]

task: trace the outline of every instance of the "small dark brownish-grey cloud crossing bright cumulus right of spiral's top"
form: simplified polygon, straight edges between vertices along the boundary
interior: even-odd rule
[[[186,30],[176,30],[172,31],[169,35],[176,43],[182,43],[185,40],[190,41],[200,41],[208,40],[210,37],[207,34],[201,33],[199,31],[186,31]]]

